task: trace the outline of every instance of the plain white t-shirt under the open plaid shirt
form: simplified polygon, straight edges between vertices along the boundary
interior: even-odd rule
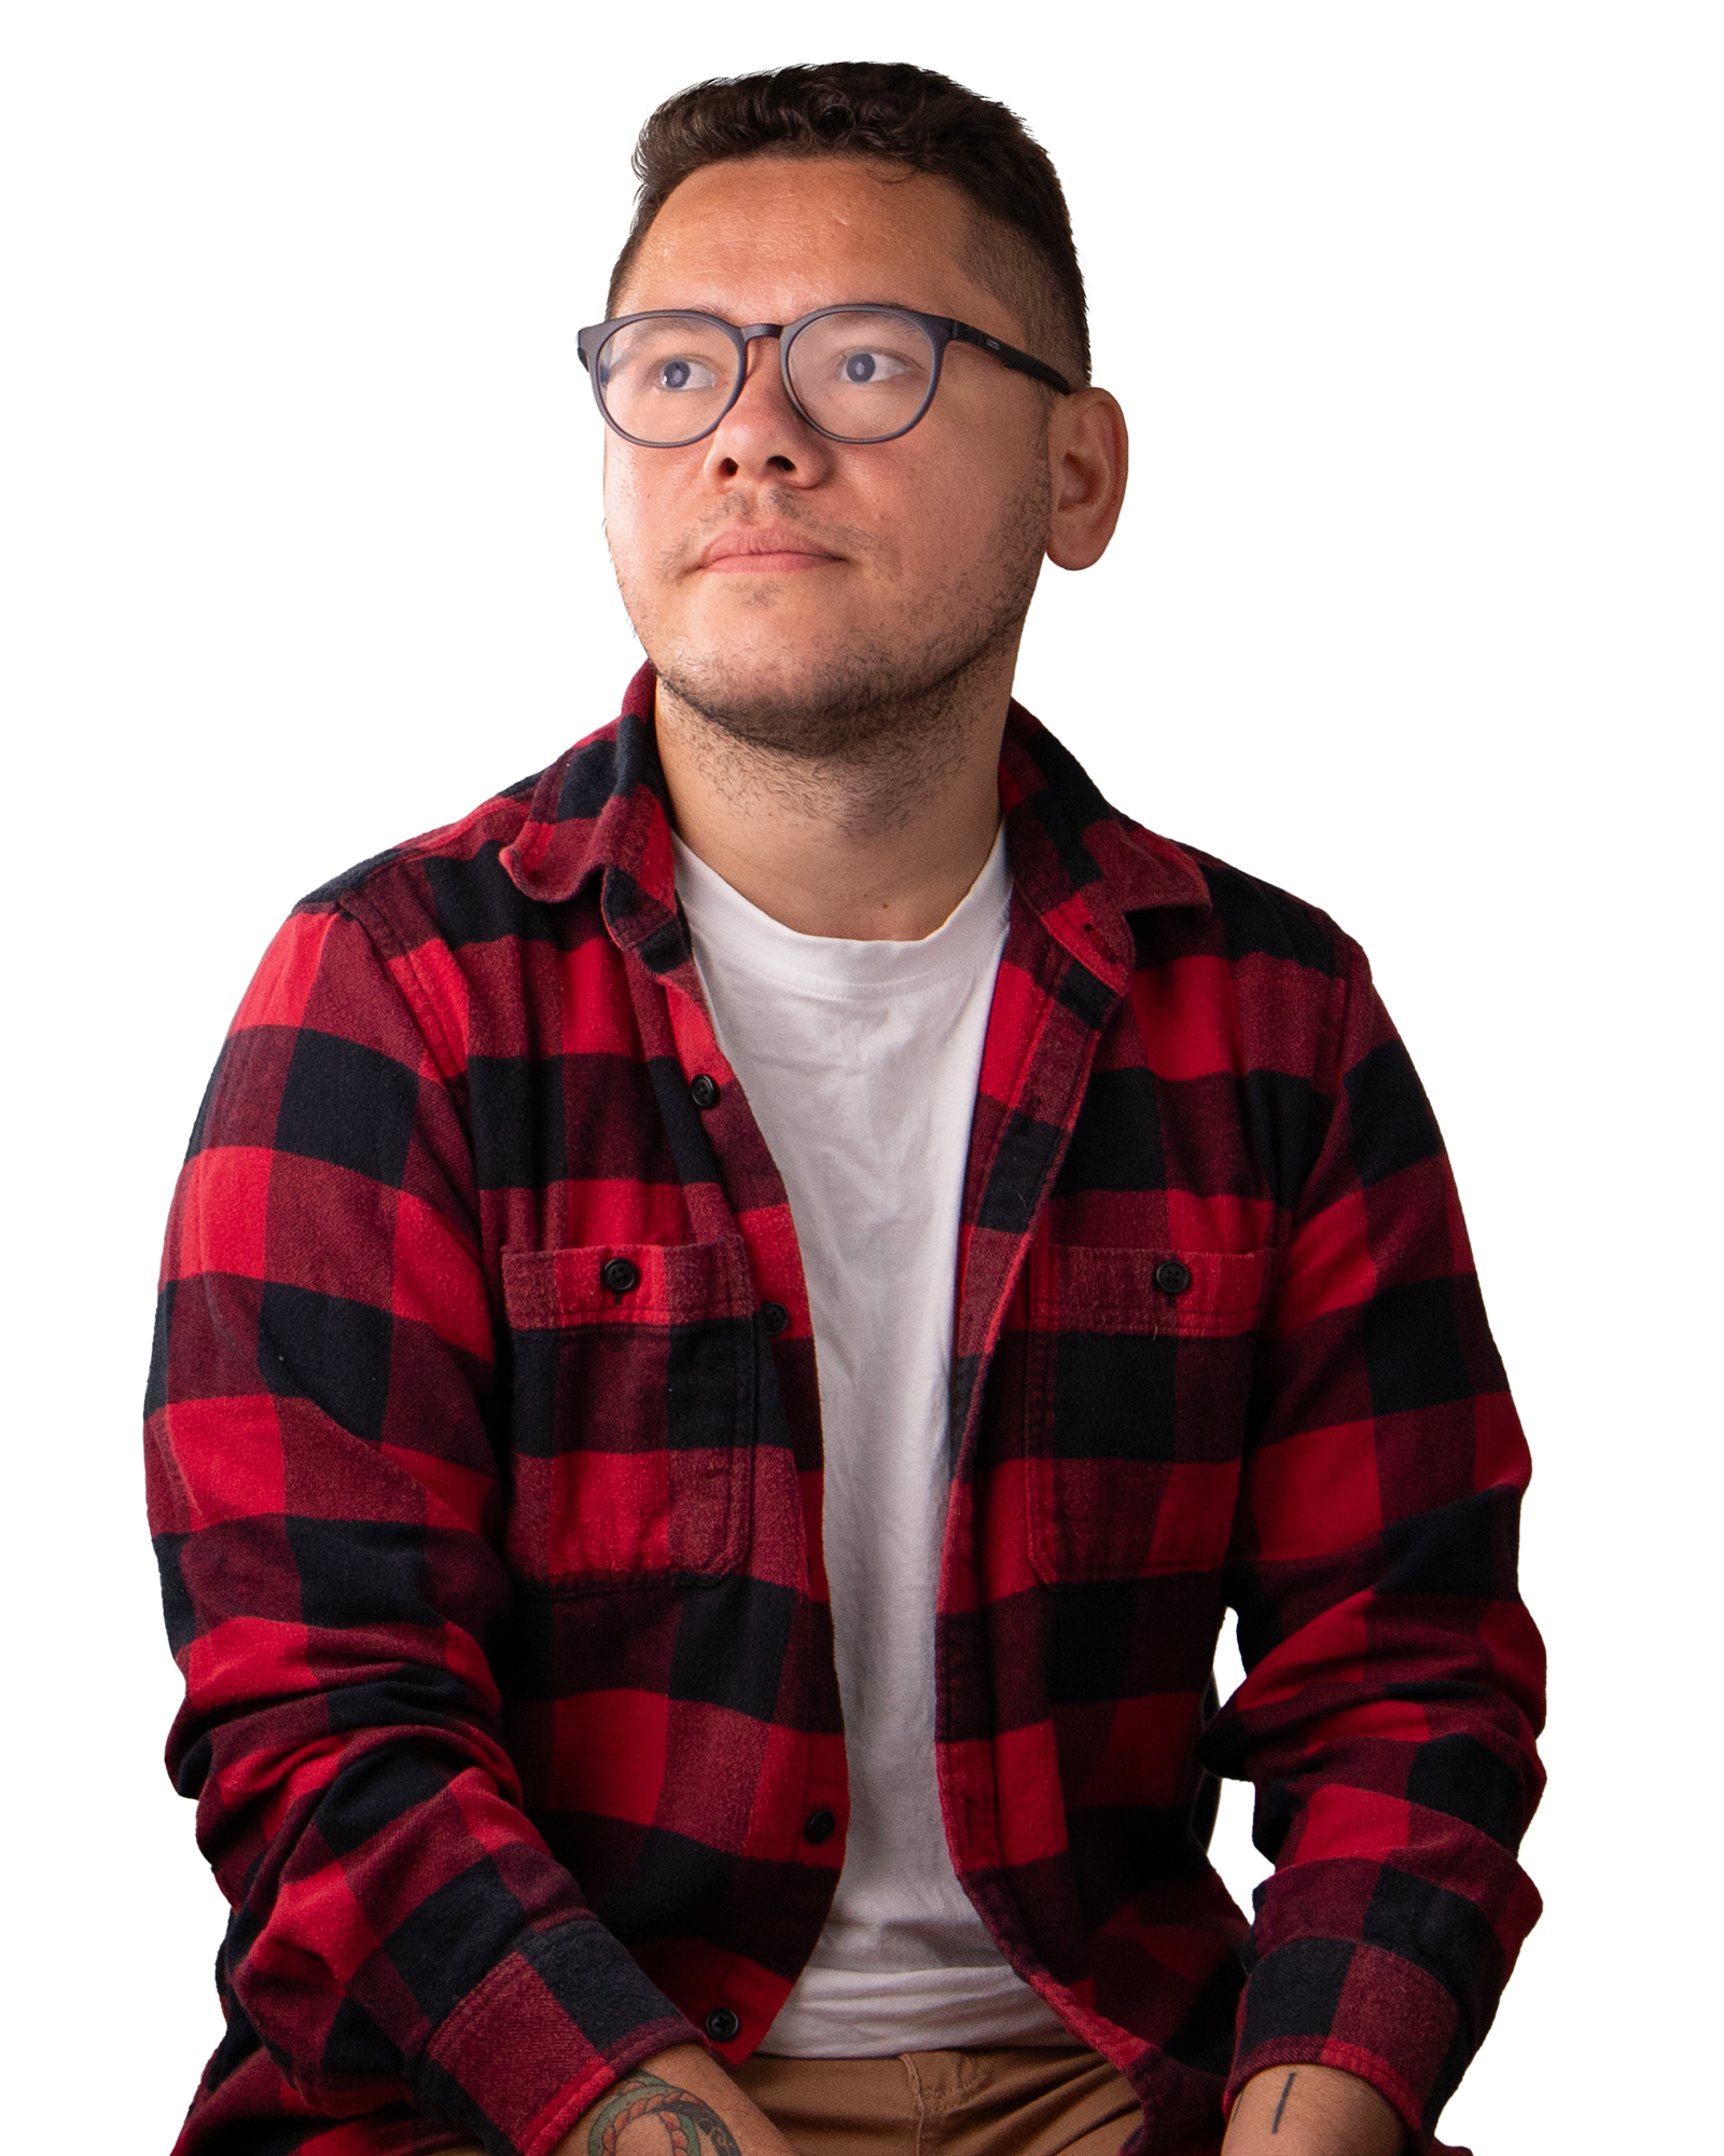
[[[933,936],[800,936],[677,843],[718,1046],[784,1177],[825,1432],[851,1824],[815,1955],[761,2044],[800,2059],[1071,2044],[957,1882],[933,1619],[963,1169],[1006,942],[1004,830]]]

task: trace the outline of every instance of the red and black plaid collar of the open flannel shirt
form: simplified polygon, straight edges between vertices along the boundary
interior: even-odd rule
[[[573,899],[601,875],[599,903],[616,944],[653,972],[670,972],[687,946],[653,737],[655,686],[653,666],[642,666],[618,716],[543,772],[502,867],[526,897],[547,906]],[[1071,957],[1114,990],[1125,987],[1136,962],[1127,914],[1209,908],[1209,886],[1190,854],[1110,808],[1071,750],[1019,703],[1006,714],[1000,806],[1019,897]]]

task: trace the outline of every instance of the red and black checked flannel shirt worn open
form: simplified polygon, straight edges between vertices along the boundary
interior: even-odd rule
[[[306,899],[192,1138],[149,1492],[168,1764],[235,1910],[196,2156],[545,2156],[642,2057],[748,2055],[830,1906],[808,1298],[651,696]],[[1442,1141],[1332,921],[1110,811],[1017,707],[1000,789],[953,1856],[1142,2152],[1284,2061],[1422,2139],[1539,1912],[1528,1455]],[[1205,1723],[1228,1606],[1248,1677]],[[1250,1932],[1215,1774],[1259,1785]]]

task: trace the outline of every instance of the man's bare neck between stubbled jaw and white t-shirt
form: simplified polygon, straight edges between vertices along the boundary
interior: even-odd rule
[[[976,882],[1000,830],[1011,673],[890,752],[810,759],[739,740],[664,681],[655,722],[683,845],[802,936],[914,942]]]

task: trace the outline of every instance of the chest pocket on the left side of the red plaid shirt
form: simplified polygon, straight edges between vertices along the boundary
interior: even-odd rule
[[[737,1572],[756,1330],[741,1238],[504,1250],[502,1294],[513,1570],[565,1593]]]

